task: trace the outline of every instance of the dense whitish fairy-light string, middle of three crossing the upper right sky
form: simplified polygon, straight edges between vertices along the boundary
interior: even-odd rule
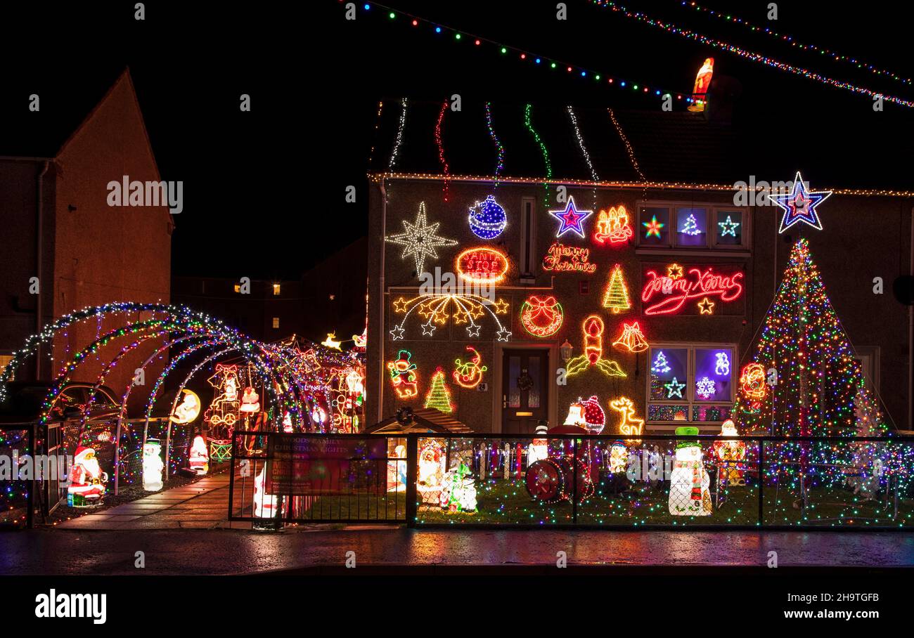
[[[718,39],[717,37],[705,36],[703,34],[696,33],[691,29],[678,27],[671,22],[664,22],[663,20],[648,16],[640,11],[632,11],[624,5],[620,5],[616,2],[611,2],[611,0],[591,0],[591,2],[593,2],[594,5],[598,5],[606,9],[611,9],[621,16],[631,18],[632,20],[636,20],[637,22],[640,22],[644,25],[662,29],[667,33],[671,33],[679,37],[685,37],[686,39],[693,40],[706,47],[727,51],[728,53],[732,53],[736,56],[739,56],[740,58],[758,62],[767,67],[771,67],[772,69],[779,69],[787,73],[792,73],[793,75],[801,76],[807,80],[814,80],[821,84],[832,86],[835,89],[848,90],[857,93],[858,95],[866,95],[867,97],[874,100],[881,99],[883,101],[892,102],[906,108],[914,108],[914,101],[905,100],[895,95],[887,95],[882,91],[866,89],[865,87],[857,86],[856,84],[845,80],[836,80],[834,78],[830,78],[821,73],[813,71],[812,69],[806,69],[804,67],[788,64],[787,62],[782,62],[779,59],[771,58],[770,56],[766,56],[755,51],[749,51],[748,49]]]

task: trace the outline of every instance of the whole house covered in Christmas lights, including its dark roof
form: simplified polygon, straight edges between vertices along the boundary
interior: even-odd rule
[[[719,432],[803,237],[883,413],[910,429],[914,324],[893,283],[914,268],[914,193],[821,184],[802,154],[753,167],[702,113],[385,101],[378,132],[369,422],[434,390],[473,431],[595,403],[606,434]],[[797,170],[834,195],[822,229],[779,232],[781,208],[735,185]]]

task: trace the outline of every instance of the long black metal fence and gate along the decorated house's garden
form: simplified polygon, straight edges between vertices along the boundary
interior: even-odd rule
[[[909,529],[914,439],[236,432],[230,520]]]

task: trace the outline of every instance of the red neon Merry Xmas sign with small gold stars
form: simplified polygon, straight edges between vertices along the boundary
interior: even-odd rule
[[[713,308],[710,302],[717,297],[721,302],[732,302],[742,296],[742,272],[720,274],[708,268],[685,268],[673,264],[666,273],[654,270],[644,271],[644,287],[641,300],[644,314],[673,314],[682,310],[689,300],[699,299],[701,314]]]

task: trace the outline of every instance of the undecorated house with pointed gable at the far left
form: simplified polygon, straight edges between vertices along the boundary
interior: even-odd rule
[[[61,122],[79,122],[73,113],[77,107],[70,105],[86,100],[83,95],[69,98],[66,105],[52,105],[46,98],[42,112],[27,113],[31,122],[39,122],[29,124],[35,130],[22,138],[27,144],[16,146],[15,135],[0,137],[5,252],[0,355],[9,356],[28,335],[75,309],[115,301],[168,303],[171,296],[174,222],[168,207],[111,207],[107,202],[108,184],[125,175],[143,182],[161,179],[129,70],[88,115],[76,114],[82,118],[78,126],[63,129]],[[41,119],[51,118],[48,112],[61,116]],[[74,326],[16,377],[53,378],[70,356],[112,327],[96,322]],[[153,352],[154,346],[138,347],[105,383],[122,391],[133,369]],[[163,365],[147,367],[146,375],[157,374]],[[80,380],[94,381],[100,371],[101,364],[90,360],[80,367]],[[142,394],[134,392],[133,398],[142,400]]]

